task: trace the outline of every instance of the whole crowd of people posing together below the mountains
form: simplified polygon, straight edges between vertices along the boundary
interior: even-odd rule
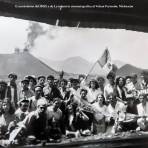
[[[101,133],[148,130],[147,73],[68,80],[17,75],[0,81],[0,139],[57,141]]]

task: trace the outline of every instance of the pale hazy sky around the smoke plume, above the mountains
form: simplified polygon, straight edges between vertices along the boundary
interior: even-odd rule
[[[81,56],[95,61],[108,47],[113,60],[148,68],[148,33],[41,25],[48,31],[35,40],[31,49],[37,57],[63,60]],[[15,47],[23,49],[28,26],[25,20],[0,17],[0,53],[13,53]]]

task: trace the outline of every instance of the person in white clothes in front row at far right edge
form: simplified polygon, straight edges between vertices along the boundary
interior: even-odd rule
[[[148,130],[148,101],[146,95],[139,96],[140,104],[137,105],[138,115],[141,116],[137,120],[138,129],[137,130]]]

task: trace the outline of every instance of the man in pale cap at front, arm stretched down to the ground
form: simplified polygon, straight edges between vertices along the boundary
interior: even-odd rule
[[[10,133],[9,141],[13,142],[19,134],[23,132],[23,136],[34,136],[36,139],[42,140],[47,137],[47,114],[46,114],[47,102],[44,99],[39,99],[37,102],[37,109],[29,113],[26,118],[18,124]],[[21,136],[21,138],[23,138]],[[21,139],[20,138],[20,139]]]

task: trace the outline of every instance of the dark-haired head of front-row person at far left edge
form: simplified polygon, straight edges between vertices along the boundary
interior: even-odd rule
[[[5,98],[2,102],[2,108],[5,114],[13,114],[14,108],[8,98]]]

